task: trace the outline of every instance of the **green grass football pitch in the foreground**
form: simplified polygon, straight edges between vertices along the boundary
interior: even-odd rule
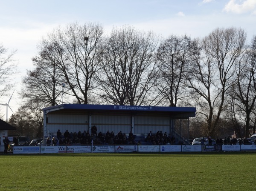
[[[255,188],[256,153],[0,155],[0,191]]]

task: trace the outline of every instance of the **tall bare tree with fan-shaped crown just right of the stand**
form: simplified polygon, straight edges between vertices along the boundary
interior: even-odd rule
[[[218,130],[227,90],[233,84],[235,62],[244,51],[246,33],[242,29],[215,29],[194,42],[194,54],[186,72],[187,87],[195,103],[204,108],[199,114],[207,122],[207,134]]]

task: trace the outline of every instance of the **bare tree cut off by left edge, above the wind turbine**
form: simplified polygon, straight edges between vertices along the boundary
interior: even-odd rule
[[[0,44],[0,97],[6,96],[14,86],[13,75],[16,74],[16,64],[13,55],[16,51],[7,54],[8,49]]]

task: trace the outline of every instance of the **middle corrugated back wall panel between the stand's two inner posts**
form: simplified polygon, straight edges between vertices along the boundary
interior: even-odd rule
[[[98,133],[102,131],[105,134],[107,131],[113,131],[117,134],[122,131],[122,133],[129,134],[131,131],[131,116],[93,115],[93,125],[96,125]]]

